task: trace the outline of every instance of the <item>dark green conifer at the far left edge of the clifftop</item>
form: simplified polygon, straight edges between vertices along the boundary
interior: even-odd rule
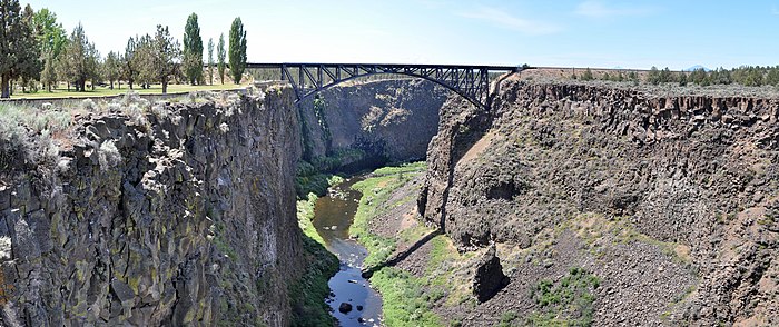
[[[32,31],[32,9],[27,6],[22,13],[18,0],[0,0],[1,98],[11,96],[11,80],[40,72],[38,50]]]

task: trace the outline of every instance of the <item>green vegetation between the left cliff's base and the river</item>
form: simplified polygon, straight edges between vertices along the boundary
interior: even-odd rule
[[[333,326],[329,307],[324,299],[329,294],[327,281],[338,271],[338,259],[324,247],[322,236],[312,224],[316,196],[297,201],[297,221],[303,229],[305,274],[289,287],[293,308],[292,326]]]

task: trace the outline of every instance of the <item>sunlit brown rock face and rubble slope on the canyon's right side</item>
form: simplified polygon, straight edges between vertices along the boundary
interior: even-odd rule
[[[490,112],[442,109],[418,207],[523,280],[593,271],[595,325],[776,325],[778,120],[779,99],[509,79]]]

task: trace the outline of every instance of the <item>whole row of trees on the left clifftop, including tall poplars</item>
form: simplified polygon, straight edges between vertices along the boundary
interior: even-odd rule
[[[12,83],[21,86],[22,92],[37,91],[40,86],[51,92],[60,82],[67,83],[68,90],[86,91],[88,81],[92,90],[102,82],[110,89],[115,82],[121,88],[122,81],[130,89],[161,83],[166,93],[170,81],[213,85],[218,78],[225,83],[228,65],[233,81],[240,83],[247,61],[246,31],[240,18],[233,21],[227,42],[220,34],[216,62],[214,48],[214,40],[209,39],[208,61],[204,63],[200,27],[193,13],[185,24],[183,44],[170,36],[167,26],[158,24],[154,34],[130,37],[124,53],[110,51],[103,57],[81,23],[68,34],[52,11],[34,11],[30,4],[22,10],[19,0],[0,0],[2,98],[11,96]]]

